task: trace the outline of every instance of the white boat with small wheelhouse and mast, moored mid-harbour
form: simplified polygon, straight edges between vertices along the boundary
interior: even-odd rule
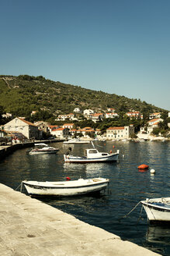
[[[107,152],[99,152],[92,143],[93,148],[86,149],[86,156],[74,156],[64,155],[64,162],[74,162],[74,163],[88,163],[88,162],[116,162],[118,160],[118,156],[120,151],[117,150],[116,153],[110,151]]]

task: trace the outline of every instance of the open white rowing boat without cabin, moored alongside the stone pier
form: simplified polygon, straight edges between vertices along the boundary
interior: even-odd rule
[[[23,181],[30,196],[75,196],[106,190],[109,179],[93,178],[56,182]]]

